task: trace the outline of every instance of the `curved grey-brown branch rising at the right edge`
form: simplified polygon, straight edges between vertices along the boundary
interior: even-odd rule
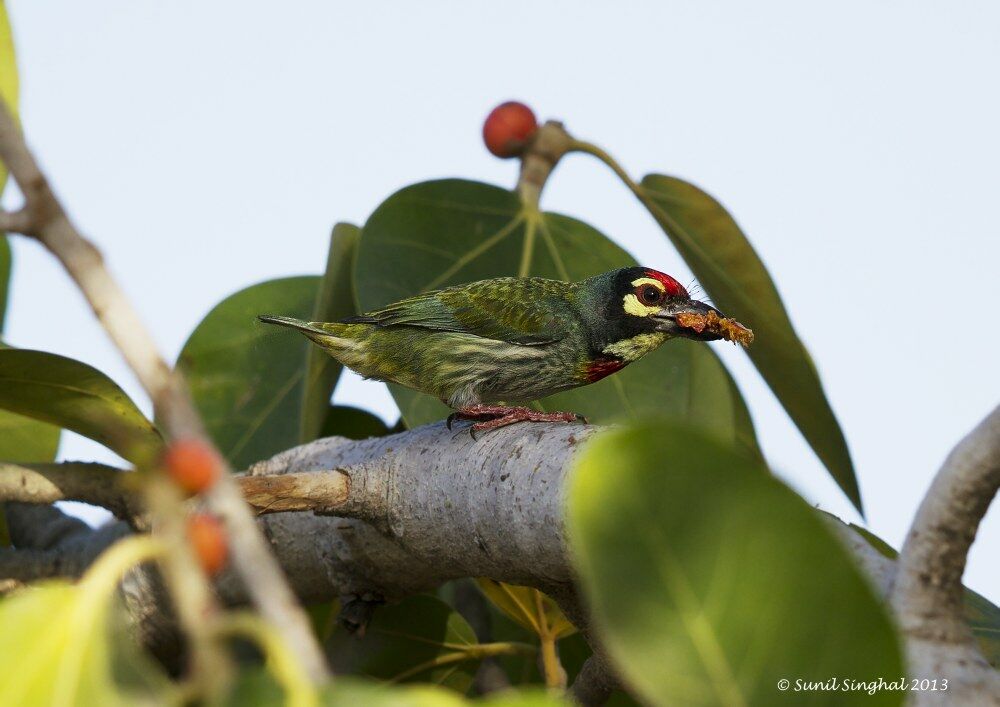
[[[891,602],[906,637],[910,672],[950,676],[949,704],[982,695],[994,695],[1000,704],[1000,675],[979,654],[962,617],[966,557],[998,488],[1000,407],[948,455],[899,554]],[[919,693],[914,703],[941,699]]]

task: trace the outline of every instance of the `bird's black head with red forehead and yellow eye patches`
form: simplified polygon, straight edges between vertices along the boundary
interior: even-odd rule
[[[723,315],[711,305],[691,299],[681,283],[658,270],[621,268],[598,275],[584,285],[590,290],[588,299],[601,320],[603,341],[595,341],[598,350],[601,344],[623,342],[643,334],[661,334],[661,340],[675,336],[696,341],[722,338],[677,322],[677,316],[683,314]]]

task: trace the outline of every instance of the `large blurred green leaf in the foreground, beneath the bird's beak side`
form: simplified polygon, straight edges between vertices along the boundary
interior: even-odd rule
[[[895,705],[899,692],[778,681],[902,674],[884,608],[824,520],[759,461],[697,430],[605,432],[578,457],[568,526],[598,635],[653,705]]]

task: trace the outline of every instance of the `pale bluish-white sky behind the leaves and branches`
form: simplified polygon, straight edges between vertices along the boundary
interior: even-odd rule
[[[396,189],[512,186],[515,163],[489,155],[480,128],[518,98],[633,175],[685,177],[731,210],[816,360],[870,527],[892,544],[1000,398],[994,3],[8,7],[29,141],[171,360],[226,295],[319,273],[330,226],[362,223]],[[690,278],[595,160],[567,158],[543,206]],[[11,343],[87,361],[148,410],[57,264],[13,245]],[[775,469],[857,520],[744,355],[716,349]],[[383,386],[353,375],[336,397],[396,415]],[[116,461],[74,435],[61,456]],[[995,602],[998,556],[994,508],[966,582]]]

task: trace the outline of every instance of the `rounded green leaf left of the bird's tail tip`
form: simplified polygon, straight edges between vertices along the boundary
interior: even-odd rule
[[[319,280],[269,280],[230,295],[181,350],[177,368],[209,435],[236,469],[299,443],[308,341],[256,318],[277,313],[308,319]]]

